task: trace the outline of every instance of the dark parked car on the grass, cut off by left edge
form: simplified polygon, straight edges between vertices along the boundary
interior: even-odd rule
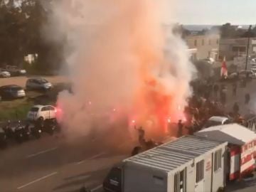
[[[2,99],[18,99],[26,96],[25,91],[18,85],[5,85],[0,87]]]

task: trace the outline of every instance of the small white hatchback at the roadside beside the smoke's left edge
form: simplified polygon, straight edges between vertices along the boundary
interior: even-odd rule
[[[31,121],[55,119],[56,112],[56,108],[51,105],[34,105],[28,112],[27,119]]]

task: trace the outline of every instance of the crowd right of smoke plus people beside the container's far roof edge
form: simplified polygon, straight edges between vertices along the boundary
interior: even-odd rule
[[[241,82],[241,87],[246,86],[246,82]],[[181,137],[183,134],[193,134],[201,130],[207,120],[213,116],[228,117],[229,122],[242,124],[247,127],[245,117],[240,114],[240,106],[238,102],[234,102],[233,109],[227,110],[226,102],[227,95],[230,92],[230,97],[236,97],[238,91],[238,82],[233,82],[230,90],[225,83],[220,82],[198,82],[193,84],[194,95],[188,100],[188,105],[184,109],[186,122],[178,120],[176,137]],[[231,90],[232,89],[232,90]],[[245,93],[245,105],[250,103],[250,94]],[[255,114],[253,114],[255,117]],[[135,127],[135,129],[137,129]],[[171,129],[171,128],[170,128]],[[145,140],[145,131],[142,127],[137,129],[139,146],[132,151],[132,156],[140,151],[151,149],[156,146],[156,142],[151,139]]]

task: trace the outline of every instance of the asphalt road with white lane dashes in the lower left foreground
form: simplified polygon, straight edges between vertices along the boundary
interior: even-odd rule
[[[129,156],[132,145],[110,146],[100,138],[44,136],[0,151],[1,192],[102,191],[107,171]]]

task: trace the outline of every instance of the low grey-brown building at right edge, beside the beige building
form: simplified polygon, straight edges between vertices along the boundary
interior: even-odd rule
[[[220,40],[220,57],[226,57],[228,60],[246,55],[248,38],[229,38]],[[256,38],[250,38],[249,55],[256,54]]]

